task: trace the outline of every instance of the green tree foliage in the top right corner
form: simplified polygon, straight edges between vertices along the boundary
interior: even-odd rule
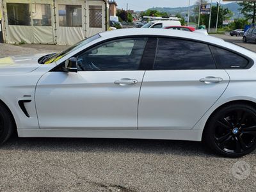
[[[246,19],[252,19],[252,23],[255,23],[255,15],[256,15],[256,2],[251,1],[251,2],[243,2],[243,3],[238,3],[241,8],[241,13],[244,14],[244,17]]]

